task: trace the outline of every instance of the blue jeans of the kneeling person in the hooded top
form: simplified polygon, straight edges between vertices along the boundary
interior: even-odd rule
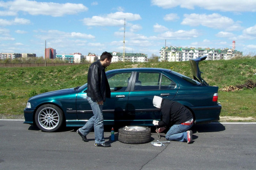
[[[165,138],[167,140],[176,140],[176,141],[187,141],[187,130],[190,129],[193,126],[191,124],[190,126],[187,125],[173,125],[170,127],[168,132],[165,135]]]

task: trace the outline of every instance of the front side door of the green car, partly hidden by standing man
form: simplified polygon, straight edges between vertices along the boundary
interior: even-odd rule
[[[132,71],[112,71],[107,75],[111,98],[106,98],[103,104],[104,125],[114,125],[119,120],[125,119],[125,109],[131,89]],[[90,104],[87,101],[87,91],[77,94],[77,118],[88,120],[93,116]]]

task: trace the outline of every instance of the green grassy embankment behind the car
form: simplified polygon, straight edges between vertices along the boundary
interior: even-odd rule
[[[90,64],[51,67],[0,68],[0,118],[23,115],[30,96],[63,88],[81,86],[87,82]],[[112,63],[107,70],[131,67],[159,67],[172,69],[191,77],[189,62]],[[202,78],[211,86],[220,88],[256,82],[256,58],[200,62]],[[256,118],[256,90],[219,91],[221,116]]]

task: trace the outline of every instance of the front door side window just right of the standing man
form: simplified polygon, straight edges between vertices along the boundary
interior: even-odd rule
[[[108,75],[111,91],[126,91],[132,72]]]

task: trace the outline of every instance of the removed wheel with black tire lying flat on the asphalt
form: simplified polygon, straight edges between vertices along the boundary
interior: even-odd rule
[[[137,129],[137,131],[125,130],[122,127],[118,130],[118,140],[122,143],[141,144],[151,141],[151,129],[143,126],[127,126],[129,129]]]

